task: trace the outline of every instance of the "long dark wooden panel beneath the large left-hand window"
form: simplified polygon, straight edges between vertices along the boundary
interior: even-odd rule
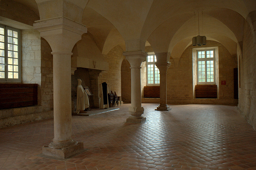
[[[37,84],[0,84],[0,109],[37,105]]]

